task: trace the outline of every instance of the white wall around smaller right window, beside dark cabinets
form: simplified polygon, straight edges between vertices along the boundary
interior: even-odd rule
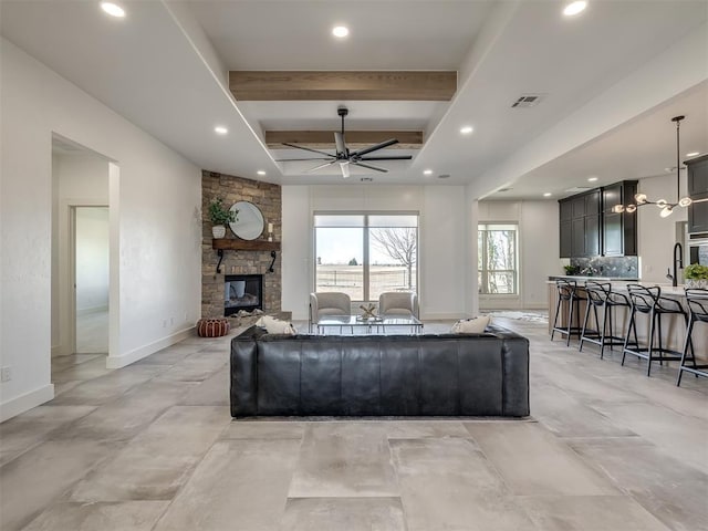
[[[519,294],[480,295],[482,309],[548,306],[545,282],[559,274],[558,201],[479,201],[479,222],[519,223]]]

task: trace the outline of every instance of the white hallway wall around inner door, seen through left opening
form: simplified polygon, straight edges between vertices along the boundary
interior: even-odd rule
[[[108,160],[88,150],[54,153],[52,192],[52,353],[61,355],[72,354],[71,207],[108,205]]]

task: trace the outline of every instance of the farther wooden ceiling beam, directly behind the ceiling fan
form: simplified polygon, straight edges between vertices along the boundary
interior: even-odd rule
[[[389,149],[420,149],[423,147],[421,131],[345,131],[346,145],[350,149],[372,146],[389,138],[398,139]],[[312,149],[334,148],[332,131],[267,131],[266,145],[270,149],[289,149],[283,143],[296,144]]]

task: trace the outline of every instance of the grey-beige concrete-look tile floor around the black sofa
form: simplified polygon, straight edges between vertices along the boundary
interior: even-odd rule
[[[229,337],[64,356],[0,425],[0,529],[708,530],[707,378],[497,322],[531,340],[529,419],[232,421]]]

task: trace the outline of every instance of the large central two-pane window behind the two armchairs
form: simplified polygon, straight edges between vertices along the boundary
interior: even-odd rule
[[[417,214],[315,214],[315,291],[417,291]]]

